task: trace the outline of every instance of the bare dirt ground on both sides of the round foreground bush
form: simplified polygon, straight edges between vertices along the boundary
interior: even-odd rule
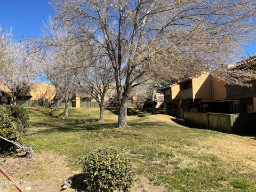
[[[74,184],[74,188],[69,188],[65,191],[83,191],[83,189],[81,189],[81,187],[83,187],[81,174],[72,171],[68,167],[68,159],[65,156],[60,156],[52,152],[34,154],[31,159],[11,156],[2,158],[0,165],[11,174],[15,181],[31,182],[31,185],[27,183],[28,185],[23,186],[23,188],[25,189],[29,186],[32,192],[60,191],[62,183],[74,175],[80,175],[78,178],[79,181]],[[3,175],[0,175],[0,181],[2,181],[1,176]],[[15,192],[18,190],[15,187],[5,186],[5,188],[1,188],[0,186],[0,192],[9,191]],[[132,191],[161,192],[164,191],[164,188],[151,185],[147,178],[139,177]]]

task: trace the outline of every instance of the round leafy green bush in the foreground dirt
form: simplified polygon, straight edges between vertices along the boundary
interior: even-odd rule
[[[85,184],[92,191],[130,191],[134,173],[128,160],[117,150],[101,148],[83,161]]]

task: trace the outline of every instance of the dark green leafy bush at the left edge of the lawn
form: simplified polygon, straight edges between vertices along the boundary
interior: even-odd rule
[[[0,107],[0,135],[6,139],[21,142],[29,126],[27,110],[18,106]],[[0,154],[12,154],[16,147],[0,139]]]

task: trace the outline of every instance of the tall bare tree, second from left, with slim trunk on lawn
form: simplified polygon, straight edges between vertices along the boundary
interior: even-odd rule
[[[64,119],[68,119],[68,106],[73,101],[78,85],[75,66],[80,62],[79,51],[77,46],[66,46],[67,42],[73,39],[70,29],[58,25],[51,18],[44,27],[43,36],[32,41],[41,51],[41,75],[55,86],[55,109],[58,109],[60,102],[64,100]]]

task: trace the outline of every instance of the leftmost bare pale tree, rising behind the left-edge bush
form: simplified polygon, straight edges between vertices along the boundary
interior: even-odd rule
[[[4,34],[1,39],[5,54],[1,57],[0,79],[11,91],[6,93],[11,99],[11,104],[16,105],[17,97],[23,97],[35,80],[38,66],[35,59],[37,53],[33,51],[27,41],[17,43],[11,36],[9,36],[9,40],[5,41]],[[7,42],[9,43],[6,44]]]

